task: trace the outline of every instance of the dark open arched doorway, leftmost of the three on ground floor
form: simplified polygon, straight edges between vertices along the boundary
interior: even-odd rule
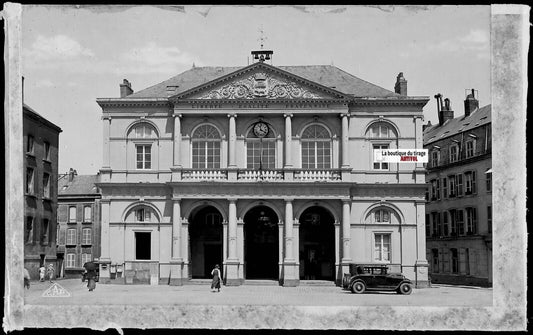
[[[211,278],[215,264],[222,269],[222,215],[213,206],[202,207],[189,218],[192,278]]]

